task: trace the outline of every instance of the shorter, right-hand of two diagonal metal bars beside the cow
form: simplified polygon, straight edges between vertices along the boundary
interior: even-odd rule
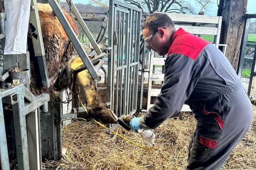
[[[88,37],[90,43],[93,45],[94,50],[96,51],[96,53],[98,55],[102,54],[102,51],[99,49],[98,44],[96,43],[96,41],[94,40],[92,34],[90,33],[89,28],[86,26],[86,24],[84,23],[83,18],[81,17],[81,15],[79,14],[79,11],[77,10],[75,4],[70,1],[70,0],[66,0],[67,3],[69,4],[71,2],[71,8],[73,11],[73,14],[76,16],[77,21],[79,22],[81,28],[84,30],[84,33],[86,34],[86,36]]]

